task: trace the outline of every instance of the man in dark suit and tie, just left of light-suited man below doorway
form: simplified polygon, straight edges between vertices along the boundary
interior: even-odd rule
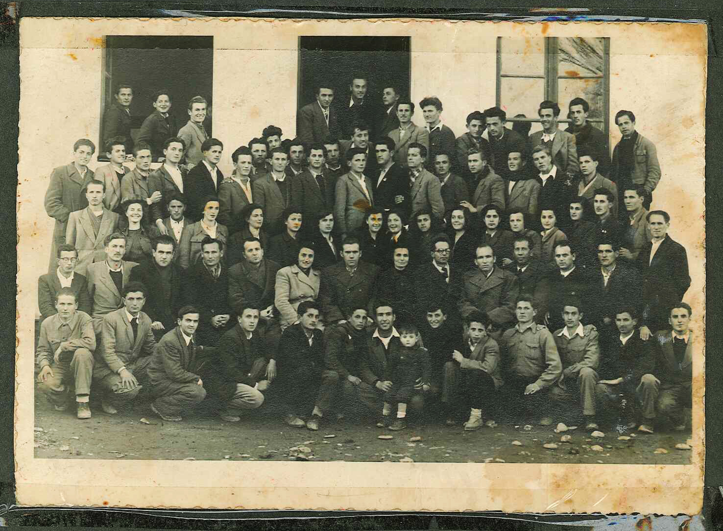
[[[322,213],[330,212],[334,208],[334,192],[336,178],[325,171],[326,148],[317,142],[309,146],[309,166],[299,174],[301,180],[301,213],[304,216],[304,232],[311,234],[317,231],[312,226]]]

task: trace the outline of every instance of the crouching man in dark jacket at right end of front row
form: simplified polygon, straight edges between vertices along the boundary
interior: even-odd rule
[[[655,368],[643,375],[641,386],[643,396],[649,396],[657,412],[672,422],[673,429],[683,431],[690,422],[690,417],[685,418],[684,408],[692,407],[693,402],[693,310],[685,302],[674,302],[672,306],[669,328],[657,332],[651,340]],[[638,431],[653,433],[652,422],[639,426]]]

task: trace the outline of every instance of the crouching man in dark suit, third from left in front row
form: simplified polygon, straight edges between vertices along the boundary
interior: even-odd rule
[[[206,396],[198,375],[203,365],[203,347],[196,344],[200,311],[181,307],[178,326],[166,333],[155,347],[148,364],[147,377],[153,402],[150,409],[168,422],[183,420],[181,413],[202,402]]]

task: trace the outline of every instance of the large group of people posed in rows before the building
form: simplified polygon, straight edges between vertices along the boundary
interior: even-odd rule
[[[364,76],[349,91],[320,85],[296,138],[269,125],[226,176],[204,98],[177,129],[159,90],[133,137],[119,86],[110,162],[91,170],[77,140],[46,193],[37,378],[54,407],[685,430],[688,259],[650,210],[661,171],[633,112],[611,158],[582,98],[565,131],[543,101],[541,131],[492,107],[457,137],[439,98],[418,125],[396,87],[379,106]]]

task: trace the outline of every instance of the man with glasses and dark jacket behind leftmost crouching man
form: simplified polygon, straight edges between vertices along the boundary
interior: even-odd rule
[[[61,288],[70,288],[75,294],[78,310],[90,315],[93,307],[87,294],[87,281],[85,276],[74,272],[78,260],[78,253],[72,245],[67,243],[58,246],[58,268],[54,273],[46,273],[38,278],[38,309],[40,310],[40,323],[51,315],[58,313],[55,302]]]

